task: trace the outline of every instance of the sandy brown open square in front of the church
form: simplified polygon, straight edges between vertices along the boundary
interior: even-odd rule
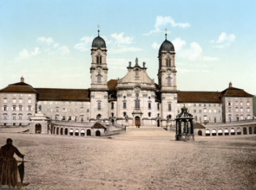
[[[196,136],[134,129],[119,136],[0,133],[25,154],[22,189],[256,189],[256,136]],[[20,160],[20,159],[17,159]]]

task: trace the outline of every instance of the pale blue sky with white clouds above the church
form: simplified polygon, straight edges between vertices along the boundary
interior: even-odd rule
[[[34,87],[89,88],[91,42],[100,25],[108,79],[146,62],[157,82],[158,49],[176,52],[181,91],[256,95],[256,1],[0,0],[0,88],[20,77]]]

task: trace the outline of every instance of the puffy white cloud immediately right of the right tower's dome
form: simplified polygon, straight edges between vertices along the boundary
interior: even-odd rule
[[[219,58],[217,57],[204,56],[203,50],[197,42],[190,43],[190,47],[181,51],[180,56],[187,58],[188,60],[204,60],[204,61],[219,60]]]

